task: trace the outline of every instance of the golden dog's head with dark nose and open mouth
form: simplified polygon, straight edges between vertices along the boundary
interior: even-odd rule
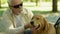
[[[32,26],[36,27],[36,29],[45,29],[47,25],[47,21],[41,15],[34,15],[31,22]]]

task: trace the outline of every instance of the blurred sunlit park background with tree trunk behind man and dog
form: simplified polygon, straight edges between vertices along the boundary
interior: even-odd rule
[[[52,24],[60,17],[60,0],[23,0],[23,7],[34,14],[41,14]],[[0,0],[0,19],[7,8],[7,0]]]

